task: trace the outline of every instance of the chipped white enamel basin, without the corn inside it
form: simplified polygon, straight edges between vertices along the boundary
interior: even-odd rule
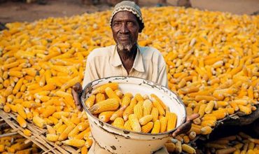
[[[131,132],[117,127],[113,127],[109,123],[104,123],[98,118],[94,117],[90,111],[87,110],[85,100],[90,97],[91,92],[96,87],[106,83],[119,83],[119,89],[125,92],[132,92],[132,94],[156,94],[160,99],[169,106],[170,111],[176,113],[177,123],[176,128],[186,121],[186,108],[181,99],[167,87],[156,85],[155,83],[142,78],[114,76],[109,78],[102,78],[94,80],[85,86],[81,97],[81,103],[87,113],[89,119],[92,137],[99,146],[105,148],[111,153],[153,153],[158,151],[169,139],[169,134],[174,132],[164,132],[160,134],[146,134],[139,132]]]

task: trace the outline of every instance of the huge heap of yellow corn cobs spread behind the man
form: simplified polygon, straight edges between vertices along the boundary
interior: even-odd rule
[[[170,151],[181,152],[182,143],[210,134],[217,120],[256,110],[258,16],[175,7],[144,8],[143,14],[139,45],[162,52],[169,89],[179,94],[188,115],[200,113],[190,132],[179,135],[176,145],[168,143]],[[104,11],[7,24],[0,34],[0,108],[18,113],[21,127],[34,123],[48,129],[49,141],[86,153],[90,128],[73,104],[71,86],[82,82],[94,48],[114,44],[110,16]]]

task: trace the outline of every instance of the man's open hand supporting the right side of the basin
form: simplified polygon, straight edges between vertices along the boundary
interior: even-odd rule
[[[187,116],[186,123],[183,123],[180,127],[178,127],[177,130],[174,131],[174,133],[172,134],[172,137],[176,137],[179,134],[188,132],[190,130],[190,127],[192,126],[193,120],[195,120],[199,116],[200,115],[198,113]]]

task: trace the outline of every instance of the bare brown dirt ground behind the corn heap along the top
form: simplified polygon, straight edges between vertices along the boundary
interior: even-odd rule
[[[0,0],[0,2],[3,0]],[[18,0],[6,0],[0,3],[0,22],[32,22],[34,20],[48,17],[64,17],[92,13],[111,9],[106,1],[101,0],[100,4],[93,6],[81,3],[81,0],[46,0],[46,5],[38,3],[22,3]],[[190,0],[193,8],[201,10],[219,10],[238,15],[251,14],[259,10],[259,0]],[[167,1],[167,5],[176,6],[177,0]],[[156,6],[158,0],[139,0],[141,7]]]

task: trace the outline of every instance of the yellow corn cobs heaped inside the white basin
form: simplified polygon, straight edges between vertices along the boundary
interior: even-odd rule
[[[103,122],[125,130],[158,134],[176,127],[176,113],[170,112],[157,95],[123,94],[118,83],[97,87],[85,106]]]

